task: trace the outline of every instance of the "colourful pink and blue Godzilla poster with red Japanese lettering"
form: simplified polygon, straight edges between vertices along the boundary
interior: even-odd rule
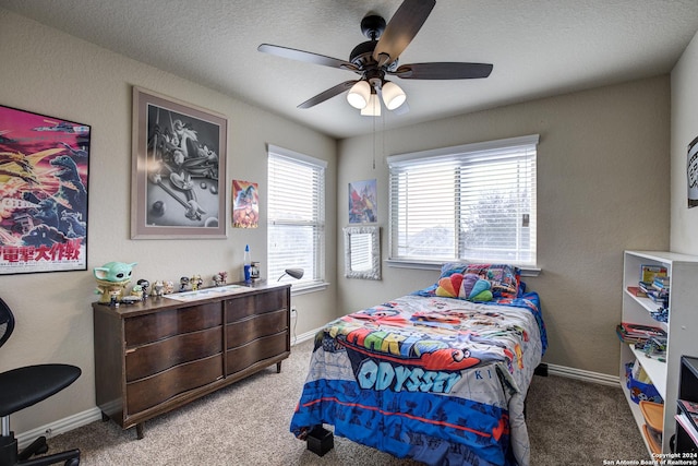
[[[0,274],[87,270],[89,131],[0,106]]]

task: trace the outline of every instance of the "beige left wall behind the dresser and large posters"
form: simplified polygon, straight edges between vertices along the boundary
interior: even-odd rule
[[[0,103],[92,126],[88,271],[0,277],[0,296],[16,314],[12,338],[0,349],[0,371],[60,361],[83,375],[70,390],[12,417],[23,432],[94,408],[92,268],[109,261],[139,262],[135,278],[179,280],[227,270],[238,277],[244,244],[266,263],[266,224],[228,229],[220,240],[131,240],[131,87],[143,86],[228,117],[227,177],[256,181],[266,201],[266,144],[328,162],[328,205],[335,205],[336,141],[258,108],[0,9]],[[230,193],[227,193],[228,202]],[[229,207],[227,207],[229,208]],[[328,208],[327,272],[334,283],[336,231]],[[228,213],[228,225],[230,225]],[[333,319],[334,285],[293,298],[298,333]]]

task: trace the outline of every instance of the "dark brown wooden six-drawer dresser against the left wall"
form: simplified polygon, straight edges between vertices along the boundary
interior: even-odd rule
[[[103,418],[143,422],[290,355],[290,285],[255,283],[196,299],[93,303],[95,389]]]

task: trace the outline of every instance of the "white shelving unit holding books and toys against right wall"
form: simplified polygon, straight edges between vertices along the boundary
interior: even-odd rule
[[[676,394],[681,356],[698,353],[698,256],[662,251],[625,251],[623,272],[623,322],[660,326],[669,334],[666,361],[648,358],[631,345],[621,344],[621,386],[625,392],[633,416],[642,432],[645,418],[639,406],[630,399],[625,384],[625,365],[637,360],[650,377],[664,399],[664,427],[662,453],[671,453],[670,439],[675,431]],[[669,295],[669,322],[658,322],[650,315],[658,304],[651,299],[639,298],[628,291],[637,286],[640,265],[663,265],[671,277]],[[645,439],[645,435],[642,435]],[[649,443],[645,439],[648,452]]]

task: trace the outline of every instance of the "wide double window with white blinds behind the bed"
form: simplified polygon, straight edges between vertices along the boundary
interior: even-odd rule
[[[390,260],[535,264],[538,135],[388,157]]]

